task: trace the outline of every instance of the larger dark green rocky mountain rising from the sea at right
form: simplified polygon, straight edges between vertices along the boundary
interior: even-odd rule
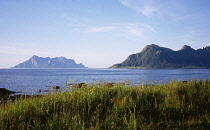
[[[210,46],[194,50],[184,45],[178,51],[152,44],[110,68],[210,68]]]

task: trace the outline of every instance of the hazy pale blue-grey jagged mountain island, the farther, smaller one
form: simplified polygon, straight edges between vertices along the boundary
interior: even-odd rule
[[[65,57],[38,57],[34,55],[29,60],[12,68],[86,68],[82,63],[77,64],[73,59]]]

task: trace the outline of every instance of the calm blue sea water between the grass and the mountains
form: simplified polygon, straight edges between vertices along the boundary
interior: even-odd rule
[[[210,69],[0,69],[0,88],[25,93],[67,83],[126,82],[135,85],[210,78]]]

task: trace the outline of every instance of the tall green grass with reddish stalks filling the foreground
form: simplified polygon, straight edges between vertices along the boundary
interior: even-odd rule
[[[210,80],[79,87],[0,105],[0,129],[210,129]]]

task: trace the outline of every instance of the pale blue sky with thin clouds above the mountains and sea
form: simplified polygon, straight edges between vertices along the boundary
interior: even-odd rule
[[[210,46],[209,0],[0,0],[0,68],[33,55],[91,68],[148,44]]]

